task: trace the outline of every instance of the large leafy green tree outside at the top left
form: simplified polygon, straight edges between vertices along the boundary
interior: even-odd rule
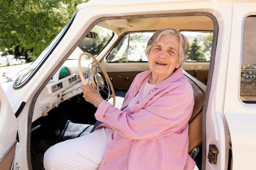
[[[0,51],[2,56],[34,60],[76,11],[89,0],[1,0]]]

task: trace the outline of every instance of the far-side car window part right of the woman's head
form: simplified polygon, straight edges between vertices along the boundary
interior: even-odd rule
[[[181,31],[189,40],[189,51],[186,62],[209,62],[213,33]]]

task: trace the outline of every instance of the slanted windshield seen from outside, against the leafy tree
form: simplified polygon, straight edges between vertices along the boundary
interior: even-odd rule
[[[52,40],[52,42],[45,48],[45,50],[36,58],[36,60],[27,68],[27,70],[20,75],[13,84],[14,88],[22,86],[26,80],[35,73],[36,69],[43,63],[44,60],[50,55],[52,49],[58,44],[58,41],[65,35],[71,23],[74,20],[76,13],[74,13],[70,22],[61,30],[61,32]]]

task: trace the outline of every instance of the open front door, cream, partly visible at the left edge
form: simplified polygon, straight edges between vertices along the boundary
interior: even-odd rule
[[[16,135],[16,117],[0,85],[0,170],[13,169]]]

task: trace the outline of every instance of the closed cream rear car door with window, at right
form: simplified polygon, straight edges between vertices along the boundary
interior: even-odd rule
[[[224,114],[229,126],[233,170],[255,169],[256,4],[234,4]]]

